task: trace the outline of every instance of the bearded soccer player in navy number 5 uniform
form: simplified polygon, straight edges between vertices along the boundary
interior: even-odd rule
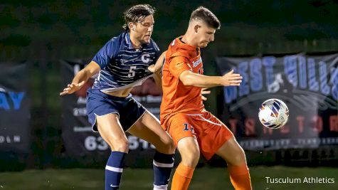
[[[154,115],[134,100],[130,91],[151,77],[156,61],[163,61],[152,40],[154,8],[148,4],[125,11],[125,32],[103,46],[93,60],[75,75],[60,95],[74,93],[97,74],[87,92],[88,120],[112,152],[105,167],[105,189],[118,189],[129,144],[125,132],[154,144],[154,189],[167,189],[174,165],[174,144]],[[155,79],[156,80],[156,79]]]

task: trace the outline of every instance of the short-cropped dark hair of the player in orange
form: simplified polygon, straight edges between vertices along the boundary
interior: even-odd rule
[[[211,28],[221,28],[221,23],[217,19],[216,15],[204,6],[199,6],[199,8],[191,13],[190,21],[193,19],[201,19]]]

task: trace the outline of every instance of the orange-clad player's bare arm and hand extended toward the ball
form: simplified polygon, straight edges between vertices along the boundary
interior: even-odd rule
[[[179,80],[184,85],[210,88],[215,86],[238,86],[242,83],[242,76],[238,73],[233,73],[233,70],[223,76],[200,75],[192,73],[190,70],[185,70],[179,75]]]

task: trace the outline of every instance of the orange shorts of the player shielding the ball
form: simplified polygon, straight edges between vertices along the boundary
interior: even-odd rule
[[[177,113],[167,118],[162,127],[167,129],[176,146],[184,137],[196,137],[201,154],[206,159],[211,159],[224,142],[233,137],[231,130],[211,112]]]

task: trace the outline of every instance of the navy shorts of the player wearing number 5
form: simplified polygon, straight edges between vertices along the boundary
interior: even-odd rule
[[[87,114],[94,132],[97,132],[96,116],[115,113],[119,116],[123,130],[127,131],[145,110],[131,94],[127,97],[116,97],[93,88],[87,90]]]

